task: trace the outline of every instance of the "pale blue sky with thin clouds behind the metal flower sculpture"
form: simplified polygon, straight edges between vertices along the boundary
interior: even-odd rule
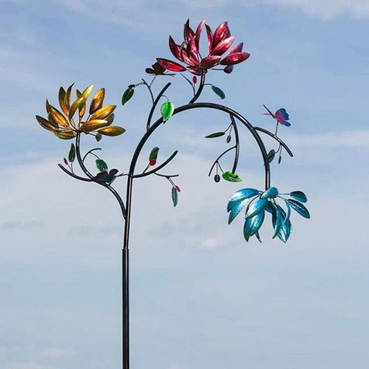
[[[187,18],[213,28],[228,20],[251,53],[231,75],[209,73],[226,105],[269,129],[262,104],[289,111],[280,135],[295,157],[273,163],[272,183],[304,190],[312,219],[296,215],[286,245],[268,226],[262,244],[244,242],[242,219],[228,226],[225,207],[238,188],[262,187],[255,143],[242,137],[242,186],[216,184],[207,172],[225,146],[204,136],[224,129],[222,118],[166,124],[146,152],[179,150],[168,171],[182,192],[173,208],[168,183],[134,186],[132,368],[366,368],[368,0],[12,0],[0,17],[1,368],[120,367],[118,206],[57,168],[69,142],[34,116],[46,98],[56,104],[60,86],[105,87],[127,132],[101,141],[103,157],[127,170],[150,100],[138,89],[119,107],[122,92],[170,57],[168,35],[179,41]],[[190,89],[171,82],[181,105]],[[219,102],[211,91],[202,99]]]

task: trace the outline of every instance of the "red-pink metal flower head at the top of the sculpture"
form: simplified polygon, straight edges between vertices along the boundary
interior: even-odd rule
[[[195,32],[190,28],[190,19],[188,19],[184,25],[184,40],[181,45],[176,44],[174,39],[172,39],[171,36],[169,37],[170,51],[177,60],[187,64],[187,66],[160,57],[156,58],[157,62],[163,66],[163,68],[168,69],[168,71],[190,71],[195,75],[201,75],[204,71],[218,64],[225,65],[224,71],[226,71],[226,73],[231,73],[234,64],[244,62],[244,60],[249,58],[250,54],[242,51],[244,46],[243,42],[235,46],[226,57],[222,58],[222,55],[224,55],[233,44],[235,37],[231,36],[226,21],[219,24],[214,34],[205,22],[205,19],[201,21]],[[203,30],[204,26],[206,28],[206,34],[208,35],[208,55],[206,57],[201,57],[199,53],[199,40],[201,30]]]

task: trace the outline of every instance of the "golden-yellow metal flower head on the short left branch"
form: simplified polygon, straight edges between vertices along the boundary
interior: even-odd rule
[[[46,111],[48,119],[42,116],[36,116],[37,122],[48,131],[54,132],[55,136],[63,140],[69,140],[84,132],[90,134],[97,132],[96,138],[101,138],[101,134],[105,136],[118,136],[125,132],[123,127],[111,125],[114,120],[114,109],[116,105],[107,105],[102,107],[102,102],[105,98],[105,89],[99,89],[92,98],[89,107],[89,116],[87,120],[82,120],[86,113],[86,103],[93,84],[84,89],[81,93],[76,90],[76,100],[71,103],[72,87],[68,87],[66,91],[63,87],[59,89],[59,104],[62,111],[53,107],[46,100]],[[78,111],[78,114],[75,113]],[[64,114],[63,114],[64,113]],[[75,118],[73,118],[75,117]]]

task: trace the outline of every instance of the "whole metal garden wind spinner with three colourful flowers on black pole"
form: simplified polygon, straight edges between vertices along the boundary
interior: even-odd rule
[[[208,50],[199,50],[199,41],[201,33],[205,28]],[[243,50],[243,43],[231,48],[235,37],[231,36],[227,22],[220,24],[213,33],[211,28],[206,24],[206,21],[201,21],[196,30],[190,27],[188,20],[184,26],[183,42],[177,44],[172,37],[169,37],[169,48],[172,55],[178,62],[165,58],[157,58],[152,67],[146,69],[146,73],[152,76],[152,80],[147,82],[142,79],[141,82],[130,84],[123,93],[122,105],[125,105],[132,99],[138,87],[145,87],[150,93],[152,106],[147,116],[146,132],[138,142],[136,150],[129,163],[129,167],[125,171],[120,171],[116,168],[109,168],[109,165],[100,158],[99,148],[93,148],[82,155],[80,150],[80,140],[84,134],[93,135],[96,141],[100,141],[103,136],[118,136],[125,132],[123,127],[112,125],[114,122],[114,110],[116,105],[103,105],[105,98],[105,89],[99,89],[92,97],[92,100],[87,104],[87,100],[91,95],[93,86],[87,87],[84,91],[75,91],[75,99],[71,98],[73,84],[64,89],[59,90],[59,105],[57,109],[46,100],[47,119],[42,116],[36,116],[38,123],[51,131],[58,138],[64,140],[74,139],[71,144],[67,158],[64,158],[64,164],[59,164],[60,168],[75,179],[86,182],[95,182],[100,186],[104,186],[118,200],[120,210],[125,220],[125,231],[123,241],[123,369],[129,368],[129,225],[131,217],[132,205],[132,183],[135,179],[140,179],[150,175],[156,175],[167,180],[171,186],[171,195],[173,205],[177,206],[179,199],[180,188],[174,181],[177,175],[168,175],[162,172],[163,168],[174,159],[178,151],[173,152],[165,161],[158,161],[159,147],[154,147],[148,155],[147,165],[143,170],[136,170],[138,156],[141,154],[147,139],[156,131],[162,124],[173,119],[175,115],[190,109],[213,109],[224,114],[228,120],[228,127],[222,132],[214,132],[208,134],[206,138],[219,138],[226,136],[226,143],[229,147],[224,150],[210,168],[209,176],[214,173],[215,182],[221,180],[219,172],[222,173],[222,178],[225,181],[239,182],[242,179],[237,174],[237,163],[240,153],[240,131],[245,127],[260,149],[262,161],[264,164],[264,189],[242,188],[237,190],[228,200],[227,212],[228,224],[230,224],[237,215],[244,210],[244,239],[249,241],[250,237],[254,236],[261,242],[259,230],[264,222],[264,218],[268,215],[271,217],[273,224],[272,237],[278,237],[282,242],[287,242],[289,235],[292,232],[291,226],[291,210],[296,211],[298,215],[309,218],[309,212],[304,203],[307,197],[301,191],[295,190],[289,193],[281,193],[277,188],[271,187],[270,164],[278,157],[278,163],[281,162],[282,153],[287,152],[289,156],[293,156],[289,147],[278,136],[278,127],[284,125],[289,127],[289,115],[286,109],[280,108],[275,113],[272,113],[267,107],[267,115],[271,116],[276,123],[274,132],[269,130],[254,127],[242,114],[224,105],[215,104],[213,102],[197,102],[204,88],[211,88],[218,98],[224,100],[225,93],[219,87],[214,86],[206,81],[208,72],[224,71],[231,73],[235,64],[240,64],[246,61],[250,54]],[[207,55],[206,55],[207,54]],[[202,56],[206,55],[206,56]],[[188,75],[190,73],[190,75]],[[179,107],[174,107],[174,104],[168,98],[168,89],[170,83],[159,91],[154,93],[153,84],[159,78],[168,75],[174,76],[181,74],[186,79],[192,89],[192,97],[190,101]],[[160,109],[159,109],[160,105]],[[154,120],[154,116],[157,116]],[[170,123],[167,123],[170,124]],[[240,126],[240,127],[239,127]],[[267,150],[260,134],[270,136],[278,145],[277,150]],[[226,154],[234,155],[232,168],[223,170],[221,166],[222,157]],[[94,156],[96,169],[88,169],[85,160],[88,156]],[[78,166],[78,172],[75,171],[75,164]],[[123,199],[118,191],[112,186],[113,182],[118,177],[127,177],[127,187],[125,199]]]

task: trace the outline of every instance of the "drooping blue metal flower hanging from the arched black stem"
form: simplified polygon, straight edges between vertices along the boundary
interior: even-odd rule
[[[287,199],[285,196],[290,198]],[[277,199],[284,201],[286,210],[278,204]],[[249,241],[249,238],[255,235],[261,242],[259,229],[264,222],[265,212],[267,212],[271,214],[274,228],[273,238],[278,237],[282,242],[287,242],[292,233],[292,224],[289,219],[291,209],[302,217],[307,219],[310,217],[309,211],[303,205],[306,201],[307,197],[301,191],[281,194],[276,187],[271,187],[264,192],[255,188],[243,188],[235,192],[228,200],[228,224],[231,224],[233,219],[246,207],[244,238]]]

